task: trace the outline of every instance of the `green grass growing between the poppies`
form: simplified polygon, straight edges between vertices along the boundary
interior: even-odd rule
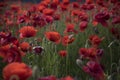
[[[100,37],[105,37],[105,39],[100,44],[100,48],[104,49],[101,63],[104,65],[105,73],[109,75],[112,73],[111,65],[113,63],[118,64],[120,57],[120,45],[118,41],[115,42],[115,44],[112,44],[111,47],[108,47],[108,45],[114,40],[112,39],[113,36],[110,34],[107,28],[104,28],[101,25],[97,27],[99,30],[98,35]],[[64,29],[64,24],[57,23],[56,30],[60,32],[61,35],[63,35],[62,32]],[[56,77],[60,78],[70,75],[83,80],[92,79],[76,64],[76,59],[79,58],[79,48],[85,47],[85,43],[88,37],[92,34],[95,34],[92,25],[89,25],[85,32],[80,32],[79,34],[75,35],[75,41],[72,44],[69,44],[67,47],[62,46],[61,44],[56,45],[46,40],[43,36],[44,32],[45,27],[38,32],[38,36],[42,37],[43,41],[36,44],[44,47],[45,51],[43,55],[35,55],[34,53],[28,52],[26,57],[24,57],[24,62],[27,64],[32,63],[32,67],[35,65],[38,67],[38,77],[55,75]],[[58,55],[58,51],[63,49],[66,49],[68,54],[66,57],[61,58]]]

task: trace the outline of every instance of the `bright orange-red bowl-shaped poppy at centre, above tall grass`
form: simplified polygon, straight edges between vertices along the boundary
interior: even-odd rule
[[[60,43],[60,40],[61,40],[60,34],[58,32],[55,32],[55,31],[46,32],[45,37],[48,40],[55,42],[57,44]]]

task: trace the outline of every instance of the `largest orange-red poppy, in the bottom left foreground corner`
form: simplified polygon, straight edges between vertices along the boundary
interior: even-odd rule
[[[3,69],[4,80],[27,80],[32,70],[24,63],[13,62]]]

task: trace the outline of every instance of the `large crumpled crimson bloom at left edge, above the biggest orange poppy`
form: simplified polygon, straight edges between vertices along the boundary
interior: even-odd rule
[[[25,55],[16,45],[5,45],[0,47],[0,57],[4,62],[21,62],[21,58]]]

